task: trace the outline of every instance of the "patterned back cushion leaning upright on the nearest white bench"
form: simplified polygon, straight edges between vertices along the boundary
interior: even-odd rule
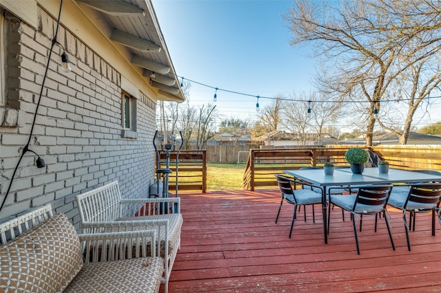
[[[59,213],[0,247],[0,292],[62,292],[82,265],[76,229]]]

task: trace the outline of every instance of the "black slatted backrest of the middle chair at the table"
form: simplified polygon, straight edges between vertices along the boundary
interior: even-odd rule
[[[354,204],[353,210],[356,210],[357,204],[365,204],[371,208],[376,206],[378,210],[382,210],[389,200],[391,191],[392,184],[360,186],[358,187],[356,204]],[[373,212],[376,212],[376,210],[374,209]]]

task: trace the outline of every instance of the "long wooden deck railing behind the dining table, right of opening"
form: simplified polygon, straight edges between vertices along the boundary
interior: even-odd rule
[[[249,151],[243,175],[245,189],[276,186],[274,174],[284,169],[299,169],[302,166],[322,166],[334,162],[336,166],[348,166],[345,160],[347,149],[355,147],[331,145],[326,147],[299,147],[295,149],[252,149]],[[404,170],[441,171],[440,145],[382,145],[359,146],[373,151],[390,162],[391,168]]]

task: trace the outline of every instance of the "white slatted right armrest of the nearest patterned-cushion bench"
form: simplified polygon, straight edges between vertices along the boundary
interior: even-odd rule
[[[85,248],[85,263],[147,257],[147,244],[152,246],[151,256],[156,257],[155,230],[104,232],[78,236]],[[106,249],[103,249],[103,243],[106,243]]]

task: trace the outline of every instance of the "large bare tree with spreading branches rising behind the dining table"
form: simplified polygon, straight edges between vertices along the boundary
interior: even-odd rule
[[[374,109],[393,81],[440,50],[439,5],[428,0],[339,1],[339,7],[294,3],[287,14],[291,44],[314,42],[315,56],[332,61],[329,74],[317,79],[320,87],[368,103],[366,142],[371,145]]]

